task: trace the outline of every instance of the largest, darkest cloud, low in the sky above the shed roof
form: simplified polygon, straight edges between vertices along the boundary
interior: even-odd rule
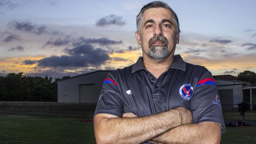
[[[91,44],[82,44],[72,49],[64,50],[69,55],[43,58],[37,61],[42,67],[88,67],[100,66],[110,59],[108,52],[101,48],[93,48]]]

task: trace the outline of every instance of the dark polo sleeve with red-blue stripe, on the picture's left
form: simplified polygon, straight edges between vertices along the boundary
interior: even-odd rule
[[[118,83],[111,73],[108,73],[107,78],[102,83],[94,115],[99,113],[112,114],[118,117],[122,117],[123,114],[123,103]]]

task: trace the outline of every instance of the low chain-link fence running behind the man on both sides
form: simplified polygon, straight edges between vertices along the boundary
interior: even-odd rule
[[[237,104],[221,104],[225,121],[243,120]],[[256,104],[245,113],[244,121],[256,122]],[[96,104],[86,103],[0,103],[0,113],[63,116],[93,116]]]

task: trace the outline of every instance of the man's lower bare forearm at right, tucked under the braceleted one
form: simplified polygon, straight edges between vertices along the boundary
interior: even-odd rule
[[[215,122],[182,125],[170,129],[149,142],[153,144],[219,144],[221,127],[221,124]]]

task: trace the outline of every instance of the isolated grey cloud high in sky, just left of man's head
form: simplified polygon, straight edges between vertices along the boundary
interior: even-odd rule
[[[108,25],[117,25],[117,26],[123,26],[126,23],[122,19],[122,17],[116,16],[116,15],[109,15],[103,18],[100,18],[96,22],[96,26],[108,26]]]

